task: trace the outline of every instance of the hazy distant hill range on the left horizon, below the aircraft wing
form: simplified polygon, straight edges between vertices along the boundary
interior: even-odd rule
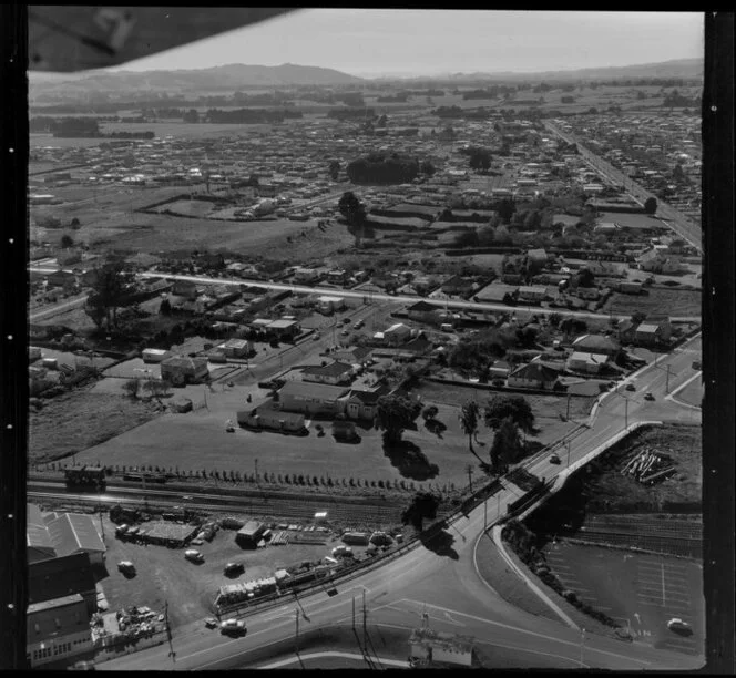
[[[277,66],[245,65],[239,63],[192,71],[105,71],[85,78],[30,79],[30,92],[125,92],[155,90],[159,92],[216,92],[238,88],[285,85],[343,85],[364,82],[361,78],[333,69],[285,63]]]

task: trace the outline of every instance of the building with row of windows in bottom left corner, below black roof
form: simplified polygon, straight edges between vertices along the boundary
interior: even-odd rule
[[[93,649],[90,616],[78,594],[31,603],[25,610],[25,658],[31,668]]]

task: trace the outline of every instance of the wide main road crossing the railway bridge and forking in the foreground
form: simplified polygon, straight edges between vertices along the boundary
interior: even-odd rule
[[[692,378],[699,341],[698,336],[656,364],[630,376],[626,381],[634,384],[635,391],[603,396],[593,421],[574,438],[569,453],[560,454],[561,465],[549,462],[549,452],[524,465],[539,476],[553,479],[569,464],[601,450],[627,425],[682,419],[684,410],[665,400],[665,396]],[[655,400],[646,400],[646,392],[653,393]],[[441,549],[418,543],[403,555],[338,584],[333,597],[319,588],[305,593],[299,600],[285,596],[279,607],[247,615],[248,633],[244,638],[227,639],[205,630],[202,620],[193,620],[173,637],[175,660],[170,646],[163,645],[100,664],[98,668],[192,670],[257,665],[263,661],[264,648],[278,646],[278,653],[284,651],[284,644],[294,638],[295,616],[300,617],[303,633],[326,625],[349,627],[354,605],[357,602],[361,610],[364,596],[371,633],[406,633],[420,626],[426,613],[437,630],[470,635],[484,646],[512,650],[519,667],[682,670],[703,665],[702,657],[657,649],[638,640],[628,644],[591,634],[583,637],[576,627],[536,617],[507,603],[478,574],[476,548],[481,538],[488,538],[487,527],[505,513],[507,504],[518,495],[518,490],[504,484],[500,493],[468,517],[459,517],[448,526]],[[253,658],[256,649],[258,661]]]

